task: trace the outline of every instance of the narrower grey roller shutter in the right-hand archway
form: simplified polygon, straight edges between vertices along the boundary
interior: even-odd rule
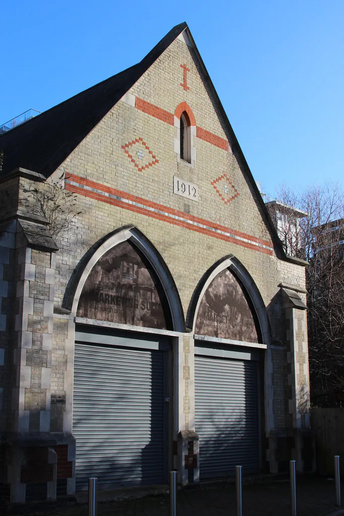
[[[195,356],[195,429],[201,478],[258,471],[257,362]]]

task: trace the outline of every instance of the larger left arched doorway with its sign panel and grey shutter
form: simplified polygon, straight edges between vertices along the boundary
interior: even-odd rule
[[[88,257],[76,308],[73,434],[76,489],[165,483],[172,397],[173,279],[135,228]],[[141,245],[140,245],[141,243]],[[96,258],[94,258],[96,254]],[[161,270],[153,264],[161,262]],[[162,271],[162,272],[161,272]],[[164,276],[165,275],[165,276]],[[161,281],[163,276],[163,281]],[[170,288],[170,290],[171,290]],[[182,324],[180,322],[179,324]]]

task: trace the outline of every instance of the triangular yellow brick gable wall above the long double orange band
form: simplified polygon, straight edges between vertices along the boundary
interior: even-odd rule
[[[180,86],[183,62],[190,68],[189,91]],[[201,70],[193,62],[189,47],[179,40],[172,43],[130,92],[171,113],[185,101],[197,125],[222,138],[229,136],[209,97]],[[137,171],[122,149],[125,143],[139,137],[159,159],[157,165],[142,172]],[[195,167],[190,168],[177,163],[173,148],[176,137],[176,127],[120,101],[65,160],[62,170],[269,240],[266,222],[238,158],[231,151],[195,138],[197,159]],[[136,150],[133,149],[135,155]],[[223,173],[239,192],[230,204],[224,204],[210,184]],[[196,183],[200,202],[174,195],[173,175]]]

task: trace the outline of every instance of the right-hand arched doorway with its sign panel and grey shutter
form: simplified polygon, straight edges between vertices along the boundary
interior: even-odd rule
[[[227,259],[209,272],[193,320],[201,479],[233,475],[236,465],[243,466],[244,474],[261,466],[266,345],[252,299],[257,293],[250,295],[236,265]],[[252,286],[248,275],[247,280]]]

